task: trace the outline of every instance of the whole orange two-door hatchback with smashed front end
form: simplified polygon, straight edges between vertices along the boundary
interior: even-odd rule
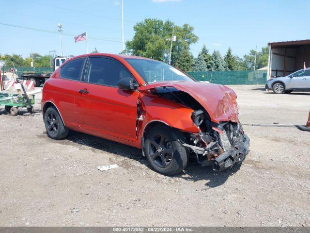
[[[173,175],[190,156],[215,170],[245,159],[249,139],[236,98],[163,62],[98,53],[62,64],[44,84],[42,109],[50,138],[75,130],[124,143]]]

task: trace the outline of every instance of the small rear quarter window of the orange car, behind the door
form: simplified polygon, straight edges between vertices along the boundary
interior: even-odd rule
[[[68,62],[61,68],[60,76],[65,79],[79,81],[84,60],[85,58],[79,58]]]

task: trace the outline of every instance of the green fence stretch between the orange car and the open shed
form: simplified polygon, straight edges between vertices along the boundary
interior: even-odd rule
[[[227,70],[186,73],[197,81],[209,81],[210,83],[224,85],[265,84],[267,79],[267,70]]]

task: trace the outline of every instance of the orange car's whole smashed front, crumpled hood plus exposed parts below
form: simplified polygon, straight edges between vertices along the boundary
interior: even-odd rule
[[[193,109],[189,120],[199,132],[183,130],[186,140],[179,139],[179,143],[201,166],[213,166],[220,171],[242,163],[248,154],[249,138],[238,121],[236,94],[232,89],[212,83],[182,81],[150,86],[152,84],[147,89],[153,95]]]

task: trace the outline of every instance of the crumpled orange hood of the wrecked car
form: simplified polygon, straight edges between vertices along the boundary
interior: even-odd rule
[[[138,87],[140,91],[149,91],[156,87],[170,86],[184,91],[207,111],[213,122],[238,121],[238,106],[236,93],[224,85],[199,82],[156,82]]]

